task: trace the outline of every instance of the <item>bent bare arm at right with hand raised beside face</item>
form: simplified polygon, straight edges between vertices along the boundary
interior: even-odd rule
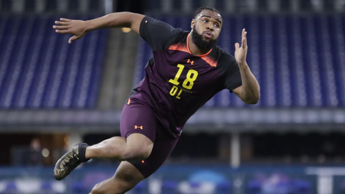
[[[247,32],[243,29],[241,47],[238,43],[235,44],[235,59],[241,73],[242,86],[233,92],[245,103],[256,104],[260,99],[260,86],[246,62],[247,49]]]

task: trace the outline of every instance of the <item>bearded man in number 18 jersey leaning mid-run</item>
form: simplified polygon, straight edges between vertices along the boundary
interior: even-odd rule
[[[115,175],[93,187],[91,194],[125,193],[153,174],[174,149],[189,117],[219,91],[227,88],[247,104],[260,98],[259,84],[246,63],[247,32],[242,31],[242,45],[235,44],[235,57],[216,46],[223,18],[214,8],[197,9],[190,32],[130,12],[55,23],[56,32],[73,35],[68,43],[95,29],[131,28],[153,51],[144,79],[122,109],[121,137],[92,146],[77,144],[56,163],[54,177],[61,180],[91,158],[122,161]]]

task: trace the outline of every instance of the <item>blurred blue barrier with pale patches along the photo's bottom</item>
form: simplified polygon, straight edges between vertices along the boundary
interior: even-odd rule
[[[213,165],[213,166],[210,166]],[[205,169],[224,176],[211,177],[198,172]],[[317,193],[315,175],[306,175],[306,166],[242,166],[231,168],[227,163],[209,165],[165,164],[154,175],[140,182],[131,194],[231,194],[241,191],[246,194],[312,194]],[[116,165],[81,166],[65,180],[56,181],[51,176],[51,167],[0,167],[0,194],[9,193],[89,193],[92,187],[114,175]],[[194,175],[193,175],[194,174]],[[198,177],[199,175],[200,177]],[[28,176],[30,175],[30,176]],[[94,175],[94,176],[92,176]],[[344,177],[334,176],[334,194],[344,188]],[[93,180],[93,178],[95,180]]]

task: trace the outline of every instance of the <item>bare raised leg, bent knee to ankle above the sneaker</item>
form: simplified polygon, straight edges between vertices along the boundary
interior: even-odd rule
[[[127,161],[146,159],[151,154],[152,141],[145,135],[134,133],[126,138],[112,137],[86,148],[86,158],[106,158]]]

